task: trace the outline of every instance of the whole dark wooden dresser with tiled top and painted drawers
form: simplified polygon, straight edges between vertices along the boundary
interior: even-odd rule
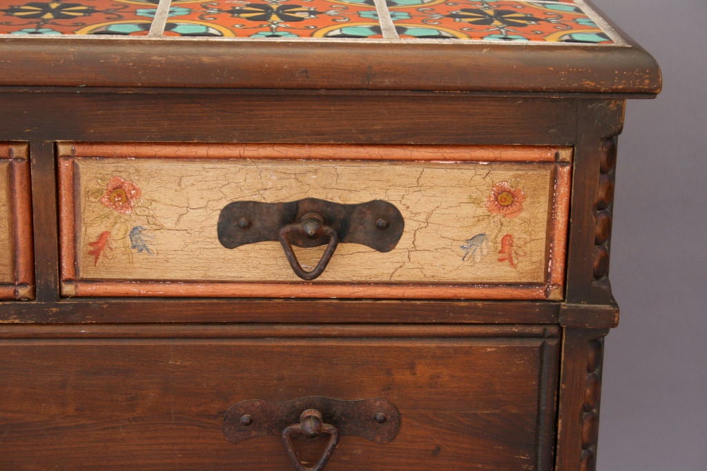
[[[594,470],[583,0],[0,0],[0,469]]]

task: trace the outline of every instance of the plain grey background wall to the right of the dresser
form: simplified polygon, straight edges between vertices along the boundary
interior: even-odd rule
[[[707,0],[594,0],[653,54],[619,138],[600,471],[707,470]]]

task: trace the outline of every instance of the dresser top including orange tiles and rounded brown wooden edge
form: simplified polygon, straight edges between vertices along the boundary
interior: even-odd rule
[[[0,56],[0,85],[660,90],[584,0],[0,0]]]

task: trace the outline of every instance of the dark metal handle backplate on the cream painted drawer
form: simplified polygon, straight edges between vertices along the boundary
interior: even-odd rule
[[[363,244],[379,252],[388,252],[402,236],[404,220],[400,211],[383,200],[361,204],[341,204],[317,198],[288,203],[234,201],[218,216],[218,240],[228,249],[255,242],[277,241],[283,227],[300,222],[308,213],[317,213],[324,225],[337,232],[339,242]],[[315,247],[329,243],[329,237],[309,238],[292,233],[291,244]]]

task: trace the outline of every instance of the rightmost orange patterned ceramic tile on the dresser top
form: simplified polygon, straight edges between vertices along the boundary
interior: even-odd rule
[[[388,0],[388,10],[402,39],[613,42],[568,2]]]

